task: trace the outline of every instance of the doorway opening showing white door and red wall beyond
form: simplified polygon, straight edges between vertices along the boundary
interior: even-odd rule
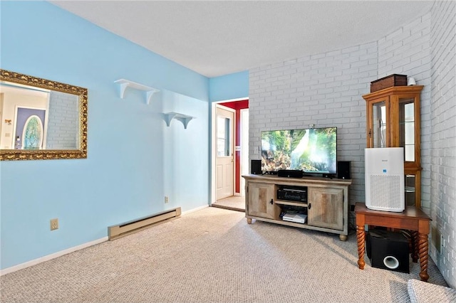
[[[244,179],[249,173],[249,100],[212,104],[211,206],[245,211]]]

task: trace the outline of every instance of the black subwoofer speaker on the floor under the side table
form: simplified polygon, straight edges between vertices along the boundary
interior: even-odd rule
[[[366,250],[372,267],[410,273],[408,238],[403,233],[371,230],[366,238]]]

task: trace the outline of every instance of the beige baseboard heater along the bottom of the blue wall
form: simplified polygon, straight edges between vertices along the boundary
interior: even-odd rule
[[[181,214],[180,207],[170,209],[169,211],[163,211],[161,213],[155,213],[155,215],[131,220],[119,225],[113,225],[108,227],[108,239],[115,240],[131,233],[136,233],[139,230],[150,228],[153,225],[165,223],[167,220],[178,218]]]

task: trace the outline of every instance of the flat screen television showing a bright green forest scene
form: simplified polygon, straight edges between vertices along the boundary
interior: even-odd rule
[[[337,127],[261,132],[261,171],[337,174]]]

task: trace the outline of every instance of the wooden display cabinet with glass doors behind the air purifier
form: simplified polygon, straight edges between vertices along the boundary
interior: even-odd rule
[[[393,86],[363,95],[367,147],[403,147],[405,205],[421,207],[420,95],[423,85]]]

